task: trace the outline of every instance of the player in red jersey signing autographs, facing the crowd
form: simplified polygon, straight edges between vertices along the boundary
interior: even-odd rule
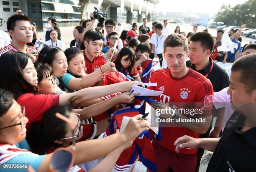
[[[155,134],[153,142],[159,172],[195,172],[197,149],[183,148],[177,153],[174,142],[183,135],[199,138],[199,134],[207,132],[211,121],[212,83],[205,76],[186,67],[187,56],[186,38],[180,34],[169,35],[164,41],[164,58],[169,68],[157,70],[150,79],[157,86],[148,87],[163,91],[160,96],[156,96],[156,101],[169,103],[169,106],[161,104],[161,110],[166,107],[176,109],[176,112],[168,114],[166,111],[160,115],[160,120],[169,119],[169,122],[161,121],[159,133]],[[180,108],[186,112],[177,112]],[[198,113],[195,113],[195,109]],[[191,119],[205,121],[194,122]]]

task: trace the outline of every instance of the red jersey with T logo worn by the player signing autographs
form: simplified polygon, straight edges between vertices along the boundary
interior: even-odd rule
[[[174,78],[169,68],[159,69],[154,73],[153,76],[151,76],[150,81],[151,83],[156,82],[157,86],[148,86],[148,89],[164,91],[163,94],[161,94],[160,96],[156,96],[156,101],[166,103],[171,102],[169,103],[169,106],[171,108],[174,108],[172,105],[174,105],[175,103],[177,104],[177,108],[180,108],[180,106],[186,106],[186,103],[188,102],[202,102],[197,103],[198,107],[194,108],[202,108],[203,113],[201,114],[201,116],[212,115],[212,83],[210,82],[210,80],[205,78],[205,76],[202,76],[200,73],[193,71],[191,68],[189,68],[188,73],[182,78]],[[182,103],[185,104],[181,105]],[[191,108],[191,106],[189,108]],[[197,115],[197,117],[199,116]],[[173,146],[173,144],[177,138],[184,135],[199,138],[198,133],[187,129],[179,124],[175,124],[175,126],[176,125],[177,127],[159,128],[161,139],[159,139],[159,135],[157,135],[154,138],[154,141],[165,147],[166,149],[175,151],[175,147]],[[183,154],[194,154],[196,152],[197,149],[183,148],[180,150],[180,153]]]

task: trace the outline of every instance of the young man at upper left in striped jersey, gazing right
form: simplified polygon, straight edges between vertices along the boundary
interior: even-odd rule
[[[28,53],[29,56],[36,60],[36,54],[33,54],[33,50],[26,46],[27,43],[32,43],[33,31],[31,27],[31,19],[26,15],[13,15],[7,20],[7,30],[12,43],[9,46],[5,46],[0,51],[0,56],[4,53],[12,51],[20,51]]]

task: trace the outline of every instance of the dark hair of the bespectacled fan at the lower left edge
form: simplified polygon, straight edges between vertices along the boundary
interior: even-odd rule
[[[11,92],[0,89],[0,117],[7,113],[13,105],[14,96]]]

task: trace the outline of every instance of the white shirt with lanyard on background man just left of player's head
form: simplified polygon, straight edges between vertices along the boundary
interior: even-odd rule
[[[150,38],[150,43],[154,44],[156,54],[161,54],[164,51],[164,40],[167,38],[166,33],[162,33],[161,36],[157,35],[156,33],[153,33],[153,35]],[[154,53],[153,50],[151,50],[151,53]]]

